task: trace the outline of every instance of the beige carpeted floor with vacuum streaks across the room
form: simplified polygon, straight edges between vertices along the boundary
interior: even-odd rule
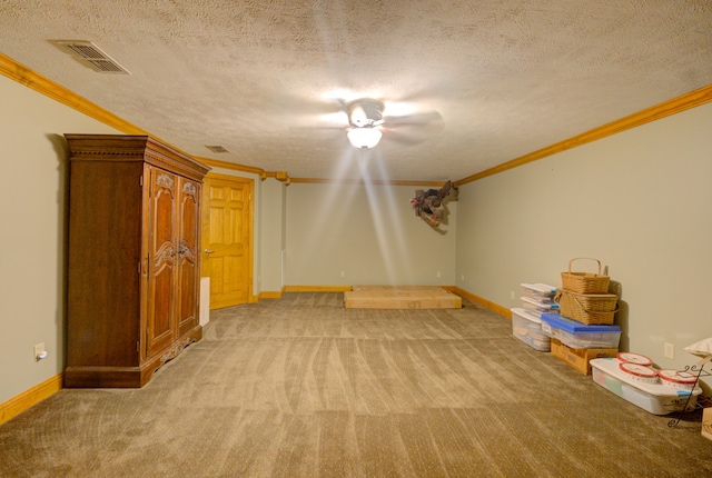
[[[342,293],[212,311],[139,390],[60,392],[0,426],[2,477],[703,477],[675,428],[456,310]]]

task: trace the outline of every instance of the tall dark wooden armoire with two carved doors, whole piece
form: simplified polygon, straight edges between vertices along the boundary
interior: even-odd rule
[[[147,136],[65,137],[65,387],[142,387],[202,337],[200,189],[209,168]]]

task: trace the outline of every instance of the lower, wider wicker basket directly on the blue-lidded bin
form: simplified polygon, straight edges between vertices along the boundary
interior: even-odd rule
[[[617,300],[615,293],[576,293],[561,289],[554,297],[562,316],[586,326],[613,323]]]

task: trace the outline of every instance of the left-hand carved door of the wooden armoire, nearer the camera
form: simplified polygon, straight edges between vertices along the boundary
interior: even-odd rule
[[[175,338],[176,188],[178,177],[159,168],[150,171],[149,252],[146,355]]]

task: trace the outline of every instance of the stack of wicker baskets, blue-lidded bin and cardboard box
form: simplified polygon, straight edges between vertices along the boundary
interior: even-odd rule
[[[621,338],[620,327],[613,325],[617,310],[617,296],[609,292],[607,276],[597,273],[562,272],[562,287],[555,300],[561,316],[544,316],[543,329],[552,338],[552,353],[585,375],[591,375],[590,361],[615,357]]]

